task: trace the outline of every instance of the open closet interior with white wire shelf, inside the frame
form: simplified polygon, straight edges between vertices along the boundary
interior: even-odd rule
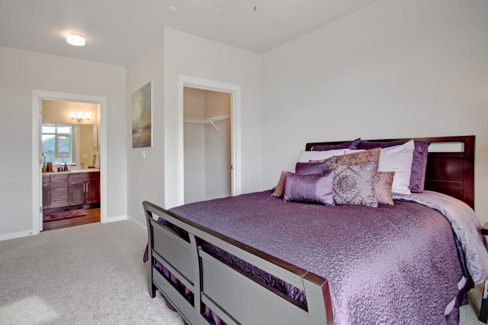
[[[231,100],[183,87],[184,204],[232,195]]]

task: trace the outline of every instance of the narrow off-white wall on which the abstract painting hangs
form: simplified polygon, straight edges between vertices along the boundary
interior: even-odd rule
[[[146,225],[142,202],[164,206],[164,35],[161,34],[141,49],[127,66],[126,128],[127,133],[127,211]],[[152,81],[153,146],[132,149],[132,94]],[[142,159],[145,152],[145,159]],[[122,202],[121,202],[122,204]]]

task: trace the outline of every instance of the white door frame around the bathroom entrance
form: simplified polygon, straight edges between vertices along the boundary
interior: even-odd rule
[[[107,97],[79,95],[70,93],[50,92],[43,90],[32,91],[32,234],[37,235],[42,230],[42,172],[41,172],[41,157],[39,153],[40,148],[40,125],[41,125],[41,100],[60,100],[60,101],[74,101],[82,103],[93,103],[100,105],[100,142],[99,146],[103,153],[100,160],[100,210],[101,222],[108,222],[107,220]]]

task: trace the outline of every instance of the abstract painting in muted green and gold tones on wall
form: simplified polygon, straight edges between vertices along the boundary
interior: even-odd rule
[[[152,147],[152,84],[132,94],[132,148]]]

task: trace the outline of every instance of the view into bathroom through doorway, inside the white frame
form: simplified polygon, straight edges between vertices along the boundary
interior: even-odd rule
[[[42,229],[100,222],[100,104],[41,99]]]

